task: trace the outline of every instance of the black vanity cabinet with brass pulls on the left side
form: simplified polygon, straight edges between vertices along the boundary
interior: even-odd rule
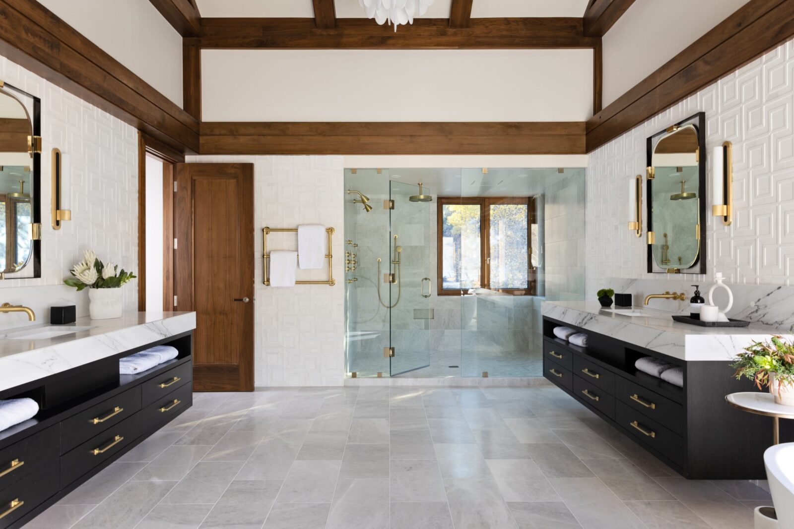
[[[141,374],[118,359],[155,345],[179,356]],[[0,432],[0,529],[22,527],[191,407],[192,332],[0,392],[40,404],[32,420]]]

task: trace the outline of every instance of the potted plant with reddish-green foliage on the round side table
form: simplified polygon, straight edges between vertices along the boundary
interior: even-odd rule
[[[794,406],[794,344],[782,336],[745,347],[730,366],[736,378],[750,378],[758,389],[769,387],[777,404]]]

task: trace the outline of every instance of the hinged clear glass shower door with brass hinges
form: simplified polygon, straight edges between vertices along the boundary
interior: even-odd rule
[[[390,340],[393,351],[391,376],[405,374],[421,377],[430,366],[430,322],[434,318],[430,300],[433,295],[433,270],[430,266],[430,214],[433,201],[411,201],[419,195],[418,185],[389,182],[389,227],[391,256],[381,263],[379,280],[389,292]],[[426,188],[422,194],[430,194]],[[427,243],[427,244],[426,244]],[[384,274],[394,274],[384,277]],[[384,283],[381,283],[382,286]]]

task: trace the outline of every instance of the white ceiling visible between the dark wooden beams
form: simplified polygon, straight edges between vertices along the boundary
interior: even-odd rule
[[[202,17],[314,17],[312,0],[196,0]],[[335,0],[337,17],[364,17],[358,0]],[[452,0],[435,0],[425,18],[448,18]],[[472,17],[581,17],[588,0],[474,0]]]

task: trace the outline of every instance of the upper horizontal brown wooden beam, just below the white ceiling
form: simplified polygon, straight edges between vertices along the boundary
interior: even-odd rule
[[[202,18],[201,48],[427,49],[594,48],[580,17],[472,18],[450,28],[447,18],[418,18],[394,28],[367,18],[337,18],[318,29],[312,18]]]

